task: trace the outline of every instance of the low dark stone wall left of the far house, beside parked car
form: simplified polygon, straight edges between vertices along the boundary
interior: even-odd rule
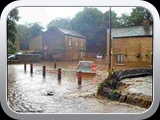
[[[16,55],[16,58],[19,60],[19,63],[23,63],[25,60],[27,62],[41,62],[40,54]]]

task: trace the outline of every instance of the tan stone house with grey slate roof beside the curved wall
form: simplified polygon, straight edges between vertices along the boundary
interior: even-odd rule
[[[107,63],[109,61],[109,31],[107,31]],[[111,29],[111,68],[152,67],[152,26]]]

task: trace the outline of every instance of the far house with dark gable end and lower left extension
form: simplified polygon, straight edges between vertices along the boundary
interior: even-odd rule
[[[85,56],[86,38],[75,31],[51,28],[30,40],[29,50],[38,48],[44,60],[81,60]]]

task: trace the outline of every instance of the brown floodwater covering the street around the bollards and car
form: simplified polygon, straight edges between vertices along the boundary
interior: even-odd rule
[[[23,64],[8,65],[7,98],[8,105],[20,113],[142,113],[147,109],[96,95],[97,85],[107,78],[104,60],[95,61],[96,75],[83,74],[78,85],[77,62],[33,63],[26,72]],[[46,66],[46,76],[42,76],[42,66]],[[57,70],[61,68],[61,80]]]

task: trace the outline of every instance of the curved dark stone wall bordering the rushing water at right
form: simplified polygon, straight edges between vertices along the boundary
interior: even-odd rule
[[[97,94],[107,97],[108,99],[124,102],[132,105],[137,105],[148,109],[152,104],[152,96],[142,93],[127,93],[122,94],[117,88],[124,86],[121,80],[125,78],[142,77],[153,75],[152,69],[139,68],[131,70],[120,70],[113,72],[103,83],[99,85]]]

